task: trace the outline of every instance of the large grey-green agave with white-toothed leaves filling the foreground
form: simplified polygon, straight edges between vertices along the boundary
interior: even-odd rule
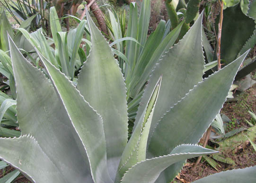
[[[185,159],[217,152],[191,144],[220,111],[248,51],[202,81],[201,15],[155,65],[127,143],[124,78],[87,17],[92,47],[77,86],[35,48],[45,75],[9,38],[21,136],[0,138],[0,158],[36,183],[168,183]],[[253,180],[255,169],[242,175]]]

